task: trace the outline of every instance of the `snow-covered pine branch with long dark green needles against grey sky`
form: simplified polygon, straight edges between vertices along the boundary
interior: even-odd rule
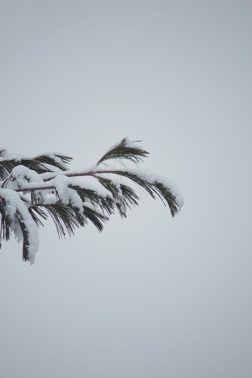
[[[176,184],[155,172],[128,169],[124,164],[124,160],[137,164],[147,154],[126,137],[108,149],[96,164],[77,171],[68,169],[72,160],[68,156],[50,153],[25,158],[0,148],[0,242],[8,241],[14,232],[17,242],[23,242],[23,260],[33,264],[39,248],[38,228],[48,215],[60,238],[66,232],[74,234],[75,228],[84,227],[88,220],[102,231],[104,222],[116,210],[126,218],[127,208],[138,204],[138,195],[121,180],[122,176],[152,198],[160,197],[174,217],[184,203]],[[120,169],[104,163],[110,159],[119,161]],[[86,182],[84,177],[91,177],[94,182]]]

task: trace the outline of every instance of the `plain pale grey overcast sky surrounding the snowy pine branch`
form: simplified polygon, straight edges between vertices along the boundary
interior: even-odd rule
[[[57,239],[0,251],[3,378],[252,376],[251,1],[0,1],[1,144],[95,163],[145,139],[174,180]]]

